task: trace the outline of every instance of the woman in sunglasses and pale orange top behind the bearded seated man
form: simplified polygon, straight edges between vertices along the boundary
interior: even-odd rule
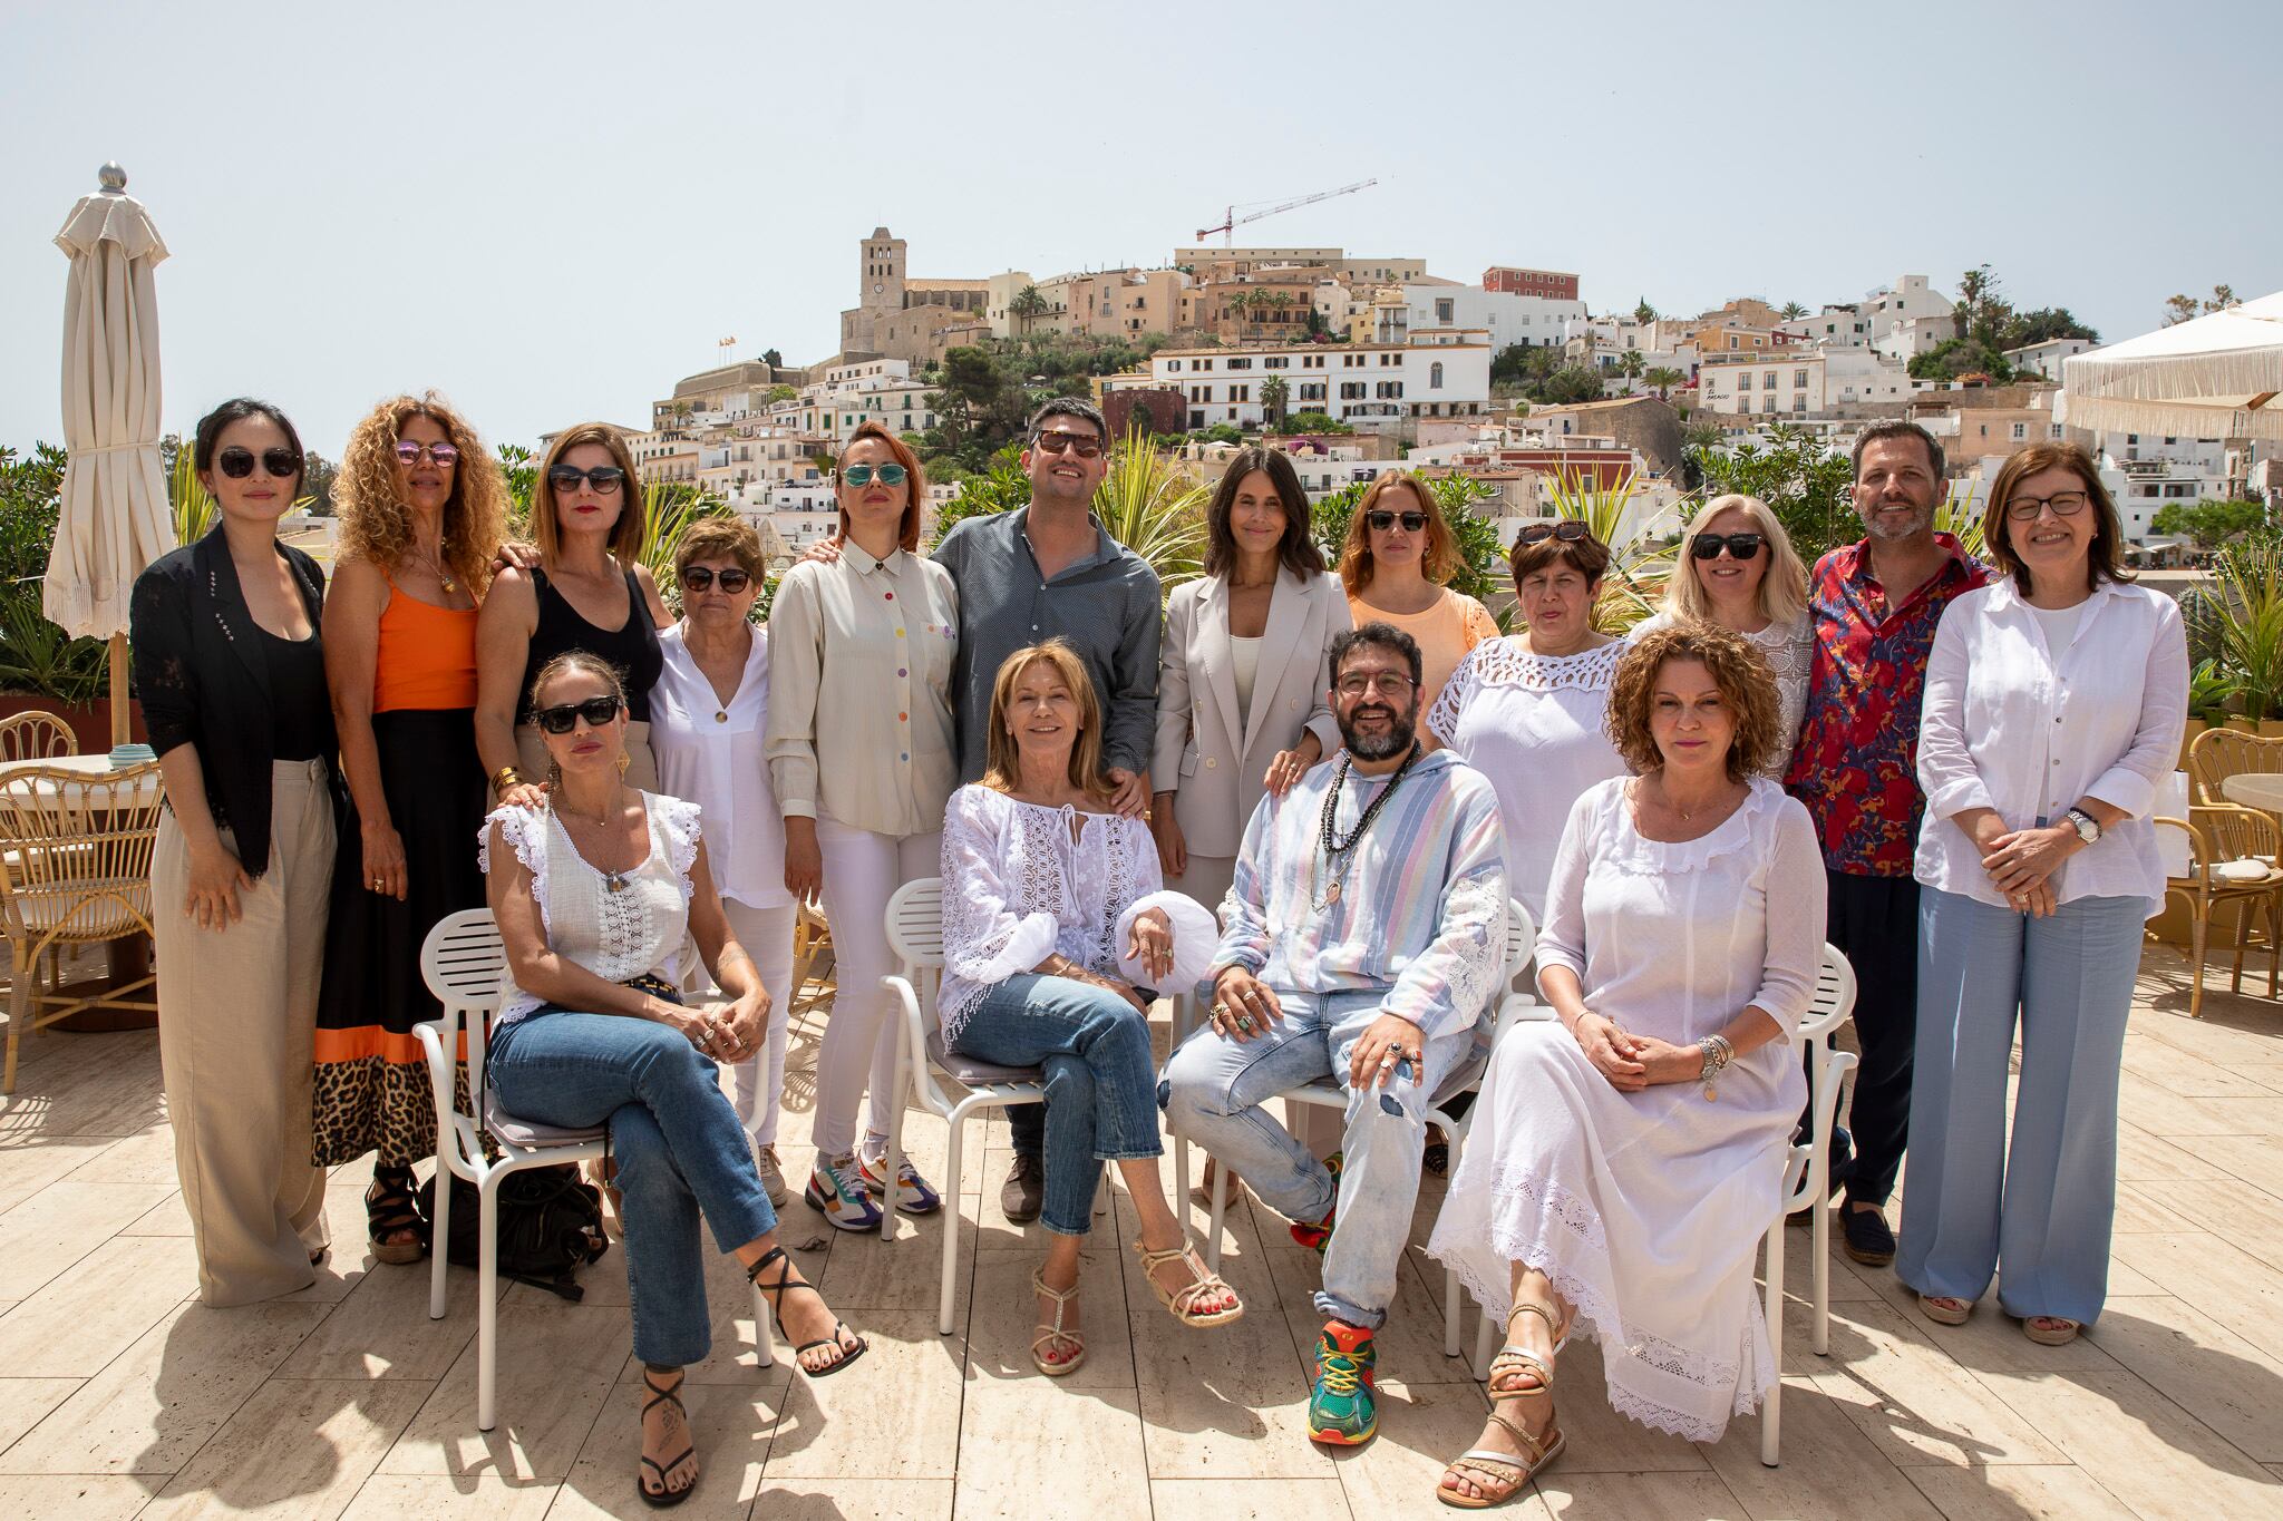
[[[1390,623],[1420,648],[1420,711],[1429,711],[1443,682],[1466,652],[1498,639],[1498,620],[1445,581],[1459,575],[1459,540],[1443,520],[1443,506],[1409,470],[1388,470],[1356,504],[1340,550],[1340,581],[1356,627]],[[1420,743],[1441,739],[1420,730]]]

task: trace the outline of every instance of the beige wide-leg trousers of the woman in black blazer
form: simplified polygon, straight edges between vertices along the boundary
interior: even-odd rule
[[[235,848],[228,830],[224,841]],[[310,1067],[331,880],[324,762],[276,762],[269,869],[237,894],[242,917],[228,928],[199,928],[183,912],[189,855],[174,810],[160,816],[158,1058],[208,1304],[317,1282],[310,1254],[326,1234],[324,1170],[310,1163]]]

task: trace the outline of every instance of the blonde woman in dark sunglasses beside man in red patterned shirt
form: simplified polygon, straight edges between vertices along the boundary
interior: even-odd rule
[[[1808,568],[1792,538],[1758,497],[1712,497],[1689,522],[1676,550],[1680,563],[1664,581],[1664,607],[1632,627],[1632,639],[1683,618],[1717,623],[1760,645],[1776,673],[1783,716],[1776,750],[1758,771],[1783,780],[1808,707],[1808,668],[1815,629],[1808,625]]]

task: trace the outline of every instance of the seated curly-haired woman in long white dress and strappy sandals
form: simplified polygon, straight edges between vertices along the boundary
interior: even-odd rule
[[[1778,714],[1760,650],[1708,623],[1648,634],[1616,668],[1610,734],[1635,775],[1578,798],[1555,855],[1539,987],[1559,1024],[1491,1056],[1427,1243],[1509,1343],[1445,1505],[1495,1505],[1562,1450],[1550,1396],[1573,1323],[1603,1345],[1610,1405],[1689,1441],[1719,1441],[1776,1382],[1751,1272],[1824,942],[1815,830],[1765,775]]]

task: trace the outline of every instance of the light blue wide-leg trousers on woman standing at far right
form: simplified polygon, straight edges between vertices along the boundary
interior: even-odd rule
[[[1918,1056],[1895,1277],[2004,1313],[2091,1323],[2109,1286],[2116,1079],[2144,898],[2050,919],[1929,887],[1918,908]],[[2004,1088],[2020,1019],[2020,1090]]]

